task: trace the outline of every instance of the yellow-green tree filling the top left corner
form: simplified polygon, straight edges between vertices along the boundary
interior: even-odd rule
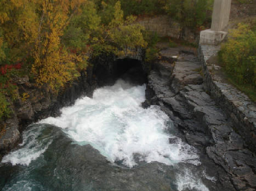
[[[0,27],[9,49],[5,63],[19,62],[33,50],[37,37],[36,4],[29,0],[3,0],[0,7]]]

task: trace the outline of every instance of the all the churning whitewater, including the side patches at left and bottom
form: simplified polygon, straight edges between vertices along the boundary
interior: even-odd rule
[[[96,89],[92,98],[82,97],[74,105],[62,108],[59,117],[48,117],[33,124],[24,132],[19,148],[5,156],[1,163],[32,165],[54,139],[53,136],[42,138],[38,129],[52,124],[61,128],[72,144],[89,144],[121,168],[133,169],[151,162],[200,165],[196,149],[175,136],[172,121],[159,106],[142,108],[145,89],[146,85],[133,86],[123,80]],[[22,180],[17,182],[22,184]],[[25,181],[22,185],[28,183]],[[177,175],[175,184],[179,191],[208,190],[188,169]],[[3,190],[9,188],[12,186]]]

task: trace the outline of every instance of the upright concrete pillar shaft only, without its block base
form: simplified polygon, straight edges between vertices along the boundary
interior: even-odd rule
[[[215,0],[212,15],[212,31],[224,31],[229,23],[231,0]]]

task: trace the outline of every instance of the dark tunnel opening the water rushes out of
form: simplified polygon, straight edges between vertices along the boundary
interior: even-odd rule
[[[98,64],[94,74],[99,86],[113,85],[118,79],[133,85],[142,85],[147,82],[143,64],[138,59],[124,58],[108,64]]]

